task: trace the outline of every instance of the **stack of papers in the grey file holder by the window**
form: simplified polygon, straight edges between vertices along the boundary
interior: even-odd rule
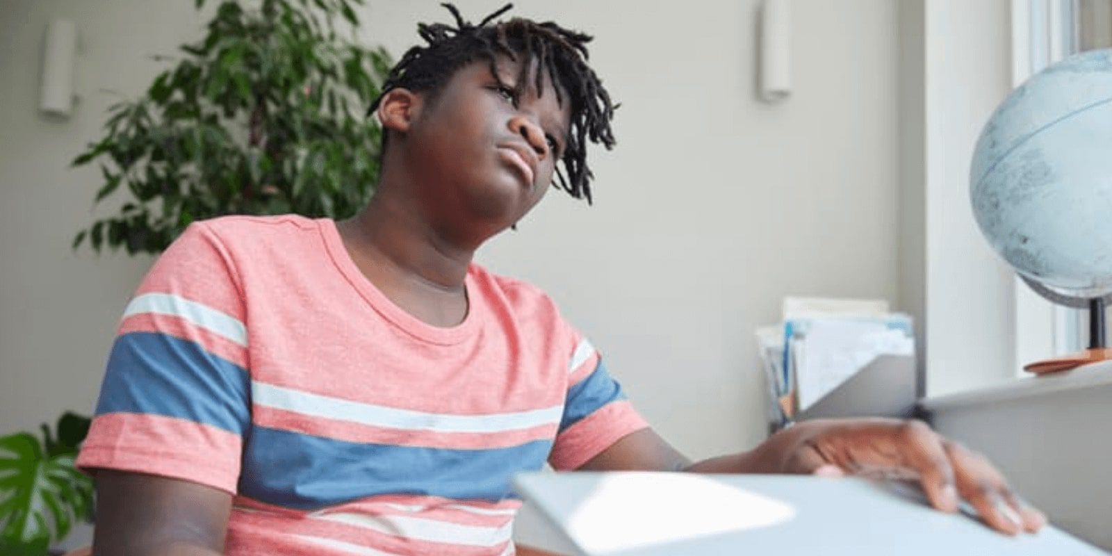
[[[883,300],[787,298],[784,321],[756,336],[773,429],[877,357],[915,354],[911,317],[890,312]]]

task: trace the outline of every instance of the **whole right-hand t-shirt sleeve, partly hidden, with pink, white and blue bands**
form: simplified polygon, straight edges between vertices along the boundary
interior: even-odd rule
[[[648,427],[603,364],[595,347],[576,335],[568,358],[568,389],[548,463],[573,470],[623,437]]]

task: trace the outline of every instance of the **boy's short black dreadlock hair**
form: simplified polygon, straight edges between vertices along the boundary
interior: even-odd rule
[[[451,12],[456,26],[446,23],[418,23],[417,33],[427,46],[415,46],[390,70],[383,83],[383,95],[395,88],[414,92],[425,92],[435,98],[443,90],[456,70],[485,60],[498,85],[506,86],[497,71],[498,54],[520,61],[516,93],[522,95],[528,85],[527,72],[535,68],[536,90],[540,95],[542,78],[548,75],[556,90],[556,100],[563,106],[570,102],[570,127],[564,149],[565,172],[556,169],[558,187],[576,199],[586,198],[590,203],[590,179],[594,176],[587,167],[586,142],[602,143],[607,149],[614,147],[610,120],[616,106],[603,82],[587,66],[589,53],[587,42],[590,36],[565,29],[552,21],[535,21],[514,18],[509,21],[492,21],[508,11],[508,3],[487,16],[478,24],[473,24],[459,14],[450,3],[441,4]],[[524,57],[519,58],[519,57]],[[533,62],[536,62],[535,64]],[[559,83],[559,87],[556,87]],[[563,92],[560,89],[563,88]],[[565,99],[564,96],[568,98]],[[371,103],[368,115],[378,109],[383,97]],[[386,138],[384,136],[384,149]],[[555,181],[554,181],[554,185]]]

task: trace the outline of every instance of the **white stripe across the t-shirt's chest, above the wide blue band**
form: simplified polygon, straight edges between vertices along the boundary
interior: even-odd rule
[[[564,406],[529,411],[487,415],[448,415],[363,404],[251,381],[252,400],[266,407],[285,409],[311,417],[358,423],[375,427],[436,433],[505,433],[559,423]]]

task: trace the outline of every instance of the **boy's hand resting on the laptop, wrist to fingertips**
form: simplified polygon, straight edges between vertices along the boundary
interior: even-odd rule
[[[748,454],[751,473],[912,478],[931,504],[956,512],[959,495],[993,528],[1015,535],[1046,523],[983,456],[926,424],[900,419],[814,420],[782,430]]]

